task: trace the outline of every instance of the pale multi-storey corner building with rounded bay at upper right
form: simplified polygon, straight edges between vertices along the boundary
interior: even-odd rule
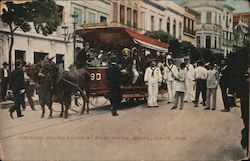
[[[224,57],[233,51],[234,8],[213,0],[185,5],[200,13],[196,20],[198,48],[208,49]]]

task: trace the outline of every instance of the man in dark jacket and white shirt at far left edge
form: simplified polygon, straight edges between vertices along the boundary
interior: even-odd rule
[[[0,69],[0,85],[1,85],[1,98],[0,101],[5,101],[6,92],[8,89],[8,79],[9,79],[9,70],[7,69],[8,63],[3,63],[3,68]]]

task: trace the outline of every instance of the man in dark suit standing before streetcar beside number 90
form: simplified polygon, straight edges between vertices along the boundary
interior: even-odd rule
[[[116,57],[111,56],[110,64],[107,69],[107,81],[109,87],[109,100],[111,102],[111,112],[113,116],[117,116],[117,107],[122,100],[121,90],[121,71],[116,64]]]

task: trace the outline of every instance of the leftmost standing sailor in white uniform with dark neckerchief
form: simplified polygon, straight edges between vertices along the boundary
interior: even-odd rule
[[[145,71],[144,81],[148,86],[148,107],[158,107],[157,96],[159,85],[162,82],[161,70],[156,66],[155,59],[151,60],[151,65]]]

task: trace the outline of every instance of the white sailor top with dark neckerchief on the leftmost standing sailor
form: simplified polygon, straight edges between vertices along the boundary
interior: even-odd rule
[[[158,67],[148,67],[145,71],[144,81],[148,83],[161,83],[161,70]]]

